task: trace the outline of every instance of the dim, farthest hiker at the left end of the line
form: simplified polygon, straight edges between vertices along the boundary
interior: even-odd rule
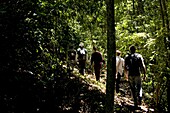
[[[76,64],[76,50],[74,49],[73,45],[70,46],[68,51],[68,60],[69,60],[69,68],[71,71],[74,71],[74,66]]]

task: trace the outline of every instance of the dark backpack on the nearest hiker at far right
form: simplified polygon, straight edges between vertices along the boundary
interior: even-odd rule
[[[140,67],[142,65],[142,59],[139,54],[129,54],[125,59],[126,68],[129,71],[129,75],[140,75]]]

